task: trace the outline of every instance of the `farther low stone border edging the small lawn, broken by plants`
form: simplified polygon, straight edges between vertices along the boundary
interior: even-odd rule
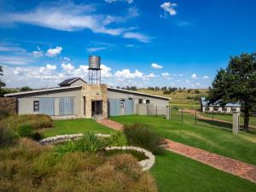
[[[111,137],[109,134],[95,134],[96,137]],[[80,137],[83,137],[82,133],[79,134],[70,134],[70,135],[59,135],[55,137],[46,137],[42,140],[39,141],[40,144],[42,145],[51,145],[51,144],[56,144],[56,143],[63,143],[67,142],[70,140],[78,140]]]

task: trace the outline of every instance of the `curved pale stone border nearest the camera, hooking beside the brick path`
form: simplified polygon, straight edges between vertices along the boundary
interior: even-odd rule
[[[134,150],[140,153],[143,153],[148,159],[146,160],[141,160],[138,162],[140,166],[143,167],[143,172],[149,170],[152,166],[154,166],[154,154],[149,152],[148,150],[144,148],[138,148],[138,147],[133,147],[133,146],[124,146],[124,147],[107,147],[105,150],[110,151],[110,150]]]

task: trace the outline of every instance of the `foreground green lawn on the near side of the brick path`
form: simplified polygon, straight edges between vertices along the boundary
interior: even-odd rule
[[[255,183],[172,152],[157,156],[150,172],[160,192],[256,191]]]

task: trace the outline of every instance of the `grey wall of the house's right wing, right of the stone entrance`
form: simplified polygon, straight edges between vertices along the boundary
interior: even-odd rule
[[[132,97],[133,100],[133,113],[138,113],[137,109],[137,104],[139,104],[139,99],[149,100],[149,104],[157,106],[157,113],[159,114],[166,114],[166,106],[169,106],[169,101],[156,98],[156,97],[151,97],[151,96],[143,96],[140,94],[135,94],[135,93],[129,93],[129,92],[122,92],[119,90],[108,90],[108,99],[129,99],[129,97]],[[141,105],[141,104],[140,104]],[[143,104],[143,105],[148,105],[148,104]],[[143,107],[139,107],[143,108]],[[147,107],[145,107],[147,108]]]

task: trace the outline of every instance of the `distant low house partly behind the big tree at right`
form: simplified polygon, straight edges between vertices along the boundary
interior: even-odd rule
[[[241,104],[236,103],[227,103],[224,107],[221,107],[218,102],[215,102],[209,105],[209,102],[206,100],[206,97],[201,97],[201,112],[202,113],[233,113],[240,112]]]

